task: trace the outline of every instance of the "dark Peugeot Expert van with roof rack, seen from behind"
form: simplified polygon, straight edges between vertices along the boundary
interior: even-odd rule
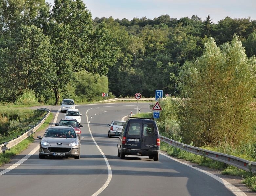
[[[117,156],[149,156],[158,161],[160,139],[156,122],[153,119],[130,117],[124,124],[117,144]]]

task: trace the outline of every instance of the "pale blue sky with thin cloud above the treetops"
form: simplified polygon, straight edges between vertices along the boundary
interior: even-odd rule
[[[46,0],[54,4],[54,0]],[[154,19],[162,15],[170,18],[191,18],[197,15],[202,21],[208,15],[212,22],[229,16],[233,19],[249,18],[256,20],[256,0],[83,0],[92,18],[132,20],[133,18]]]

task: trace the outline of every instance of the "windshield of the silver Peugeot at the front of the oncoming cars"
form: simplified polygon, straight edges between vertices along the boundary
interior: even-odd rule
[[[73,129],[48,129],[45,133],[46,138],[75,138]]]

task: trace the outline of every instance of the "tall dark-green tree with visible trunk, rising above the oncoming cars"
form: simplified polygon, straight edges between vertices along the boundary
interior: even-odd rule
[[[106,74],[115,62],[111,35],[104,24],[92,26],[91,14],[82,0],[55,0],[46,31],[51,41],[52,80],[48,88],[54,92],[55,105],[60,94],[75,82],[74,73],[86,70]]]

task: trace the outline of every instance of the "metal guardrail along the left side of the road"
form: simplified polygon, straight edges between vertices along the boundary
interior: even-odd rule
[[[0,153],[5,153],[6,150],[10,150],[10,148],[12,148],[13,146],[16,146],[18,143],[20,143],[24,139],[30,137],[30,135],[35,133],[36,130],[45,122],[45,119],[50,115],[50,110],[47,108],[41,108],[38,110],[45,110],[48,113],[41,119],[41,122],[38,122],[35,126],[32,126],[31,129],[29,129],[27,132],[25,132],[21,136],[17,137],[16,139],[13,139],[11,141],[1,144],[0,145]]]

